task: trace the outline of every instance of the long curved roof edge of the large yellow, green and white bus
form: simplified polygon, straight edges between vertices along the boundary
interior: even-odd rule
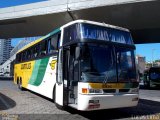
[[[126,31],[126,32],[129,32],[128,29],[126,28],[123,28],[123,27],[118,27],[118,26],[114,26],[114,25],[110,25],[110,24],[106,24],[106,23],[100,23],[100,22],[94,22],[94,21],[89,21],[89,20],[75,20],[75,21],[72,21],[72,22],[69,22],[65,25],[63,25],[62,27],[58,28],[58,29],[55,29],[53,30],[52,32],[48,33],[47,35],[27,44],[26,46],[24,46],[22,49],[20,49],[17,53],[20,53],[24,50],[26,50],[27,48],[35,45],[36,43],[39,43],[40,41],[46,39],[46,38],[49,38],[50,36],[52,36],[53,34],[59,32],[61,29],[64,29],[70,25],[73,25],[73,24],[76,24],[76,23],[87,23],[87,24],[93,24],[93,25],[98,25],[98,26],[103,26],[103,27],[107,27],[107,28],[113,28],[113,29],[118,29],[118,30],[122,30],[122,31]]]

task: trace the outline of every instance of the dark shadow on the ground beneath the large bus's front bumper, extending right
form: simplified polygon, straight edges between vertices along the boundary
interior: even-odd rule
[[[97,119],[131,119],[137,116],[153,115],[160,113],[160,102],[151,100],[140,99],[137,107],[132,108],[118,108],[108,110],[97,110],[82,112],[71,108],[67,111],[71,114],[79,114],[85,118],[97,120]]]

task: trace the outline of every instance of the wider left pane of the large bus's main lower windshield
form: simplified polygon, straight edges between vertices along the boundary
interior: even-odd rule
[[[85,45],[82,47],[82,81],[116,82],[116,65],[113,47],[106,45]]]

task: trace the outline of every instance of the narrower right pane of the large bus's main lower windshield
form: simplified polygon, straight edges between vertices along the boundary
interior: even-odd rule
[[[125,48],[116,48],[118,81],[127,82],[136,80],[134,52]]]

